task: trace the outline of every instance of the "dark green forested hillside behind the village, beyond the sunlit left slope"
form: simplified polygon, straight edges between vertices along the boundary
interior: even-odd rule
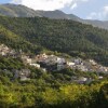
[[[73,21],[40,17],[0,17],[0,25],[18,38],[22,38],[22,40],[15,40],[16,42],[22,41],[22,45],[18,43],[22,49],[24,49],[23,45],[25,44],[23,41],[25,41],[26,44],[42,46],[54,52],[67,53],[71,56],[94,58],[104,65],[108,65],[107,30]],[[25,48],[29,49],[28,46],[30,45],[25,45]],[[35,49],[35,46],[30,49]],[[40,51],[40,49],[38,50]]]

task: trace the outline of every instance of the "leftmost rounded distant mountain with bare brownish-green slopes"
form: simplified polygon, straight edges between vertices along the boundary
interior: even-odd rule
[[[24,5],[16,4],[0,4],[0,15],[11,16],[11,17],[35,17],[40,16],[32,9]]]

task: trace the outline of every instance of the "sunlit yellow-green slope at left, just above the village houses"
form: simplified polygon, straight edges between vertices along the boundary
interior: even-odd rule
[[[8,45],[9,48],[15,49],[16,51],[19,51],[22,49],[26,53],[37,54],[42,50],[42,48],[30,43],[23,37],[0,25],[0,44],[2,43]]]

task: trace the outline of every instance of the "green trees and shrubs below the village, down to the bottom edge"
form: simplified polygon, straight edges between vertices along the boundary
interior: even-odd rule
[[[96,80],[90,84],[71,82],[71,77],[94,78],[95,73],[64,69],[44,72],[33,67],[30,80],[14,78],[12,68],[25,68],[22,60],[0,58],[0,108],[107,108],[108,80]],[[5,66],[5,67],[4,67]],[[4,70],[2,70],[4,69]]]

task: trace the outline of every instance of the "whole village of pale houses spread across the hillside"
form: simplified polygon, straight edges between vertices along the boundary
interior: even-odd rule
[[[108,73],[108,67],[104,67],[97,64],[94,59],[86,59],[86,60],[83,60],[81,58],[69,59],[53,54],[48,55],[45,53],[30,57],[29,55],[23,53],[22,50],[17,53],[15,52],[15,50],[12,50],[4,44],[0,45],[0,55],[5,57],[11,56],[13,58],[21,57],[25,65],[29,65],[38,69],[41,69],[43,72],[60,71],[65,68],[70,68],[72,70],[80,70],[86,72],[96,71],[97,73],[100,72],[106,75]],[[13,69],[13,73],[14,73],[14,79],[21,78],[22,81],[30,80],[29,69],[22,69],[22,70]],[[99,78],[103,79],[103,77]],[[83,77],[78,80],[86,81],[87,79]]]

